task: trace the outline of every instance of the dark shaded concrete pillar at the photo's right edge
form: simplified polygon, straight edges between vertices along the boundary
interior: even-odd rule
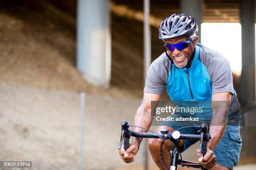
[[[242,28],[242,72],[240,81],[241,100],[255,100],[255,14],[254,0],[240,0],[240,20]],[[235,49],[235,47],[234,47]],[[253,113],[244,114],[247,120]],[[256,155],[255,126],[246,124],[242,129],[244,155]]]

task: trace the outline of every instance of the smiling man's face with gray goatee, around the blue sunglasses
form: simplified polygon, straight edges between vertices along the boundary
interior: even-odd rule
[[[188,37],[177,37],[177,38],[171,38],[166,40],[167,44],[177,44],[179,42],[184,42],[189,40]],[[197,45],[198,37],[194,37],[194,40],[189,44],[187,48],[184,48],[183,50],[179,51],[176,47],[174,48],[174,51],[167,50],[169,56],[172,58],[174,64],[178,68],[183,68],[187,65],[187,62],[190,60],[190,58],[193,55],[194,52],[194,45]]]

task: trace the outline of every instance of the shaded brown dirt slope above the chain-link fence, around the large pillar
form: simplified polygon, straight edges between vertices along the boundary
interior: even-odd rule
[[[54,7],[50,3],[44,4],[44,7],[49,5]],[[83,80],[75,67],[75,28],[63,18],[62,13],[49,18],[54,13],[52,10],[46,13],[40,3],[23,0],[2,3],[0,9],[0,85],[141,97],[141,80],[134,82],[132,90],[123,88],[123,84],[127,83],[120,79],[120,72],[117,79],[113,76],[112,82],[116,83],[112,83],[109,90]],[[69,17],[75,21],[75,16]],[[131,77],[136,76],[124,80],[129,82]]]

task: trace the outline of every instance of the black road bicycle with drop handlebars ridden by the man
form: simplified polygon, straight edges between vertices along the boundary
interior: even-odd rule
[[[182,140],[182,139],[183,140],[200,140],[198,153],[202,153],[202,155],[205,156],[205,154],[207,152],[207,149],[206,149],[207,142],[211,138],[210,134],[207,132],[207,125],[205,123],[202,123],[200,125],[200,130],[198,131],[198,133],[200,133],[200,135],[180,134],[180,132],[178,131],[179,129],[189,128],[191,126],[182,127],[182,128],[179,128],[179,129],[171,131],[171,132],[169,132],[169,130],[161,130],[161,133],[154,133],[151,130],[149,130],[149,131],[151,131],[152,133],[134,132],[134,131],[129,130],[129,126],[133,126],[133,125],[129,125],[128,122],[125,122],[125,121],[121,122],[122,133],[121,133],[121,139],[120,139],[118,149],[120,149],[124,143],[124,150],[127,150],[129,148],[129,139],[131,136],[137,137],[137,138],[161,138],[162,142],[161,142],[161,146],[160,146],[160,156],[161,156],[161,164],[162,164],[163,170],[164,170],[164,164],[166,165],[163,155],[162,155],[162,148],[163,148],[165,140],[169,140],[173,144],[172,160],[171,160],[171,165],[169,166],[170,169],[166,165],[168,170],[177,170],[178,165],[180,165],[182,167],[187,167],[187,168],[196,168],[196,169],[201,169],[201,170],[207,170],[200,163],[182,160],[182,155],[179,153],[179,141],[180,140]],[[138,126],[135,126],[135,127],[138,127]],[[142,128],[142,127],[138,127],[138,128]],[[143,128],[143,129],[146,129],[146,128]],[[148,129],[146,129],[146,130],[148,130]],[[180,155],[181,159],[179,159],[179,155]]]

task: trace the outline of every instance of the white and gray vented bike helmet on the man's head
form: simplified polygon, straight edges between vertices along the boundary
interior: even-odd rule
[[[159,26],[159,39],[166,40],[174,37],[195,36],[197,33],[195,19],[186,13],[173,14],[165,18]]]

